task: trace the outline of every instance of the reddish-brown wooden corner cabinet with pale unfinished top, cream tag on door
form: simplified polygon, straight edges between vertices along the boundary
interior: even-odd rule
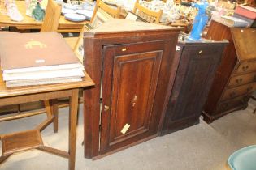
[[[130,147],[158,135],[169,83],[176,74],[180,30],[113,19],[85,32],[85,157]]]

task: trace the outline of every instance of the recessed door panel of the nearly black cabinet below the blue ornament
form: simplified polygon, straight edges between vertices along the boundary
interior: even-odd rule
[[[167,106],[169,130],[176,126],[173,123],[194,120],[202,113],[222,50],[206,47],[184,47]]]

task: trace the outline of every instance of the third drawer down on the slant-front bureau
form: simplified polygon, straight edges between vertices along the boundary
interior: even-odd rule
[[[256,83],[245,84],[240,87],[229,88],[224,91],[221,100],[231,100],[237,96],[243,96],[256,90]]]

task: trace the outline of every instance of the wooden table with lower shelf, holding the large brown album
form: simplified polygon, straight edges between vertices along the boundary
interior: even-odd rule
[[[12,154],[19,151],[38,149],[54,155],[59,155],[69,160],[69,169],[75,169],[76,160],[76,123],[78,107],[78,91],[80,87],[93,86],[94,83],[85,73],[83,81],[77,83],[59,83],[31,87],[7,88],[0,74],[0,106],[9,104],[21,104],[39,100],[50,100],[50,115],[33,130],[25,130],[14,134],[1,134],[2,156],[0,164]],[[60,151],[52,147],[44,146],[41,139],[41,131],[51,122],[58,122],[57,98],[69,97],[69,149]],[[58,125],[57,123],[55,125]],[[57,129],[54,127],[54,130]]]

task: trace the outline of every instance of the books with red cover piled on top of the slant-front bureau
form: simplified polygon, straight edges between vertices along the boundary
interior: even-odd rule
[[[222,16],[221,22],[230,27],[256,27],[256,9],[250,6],[236,6],[234,15]]]

